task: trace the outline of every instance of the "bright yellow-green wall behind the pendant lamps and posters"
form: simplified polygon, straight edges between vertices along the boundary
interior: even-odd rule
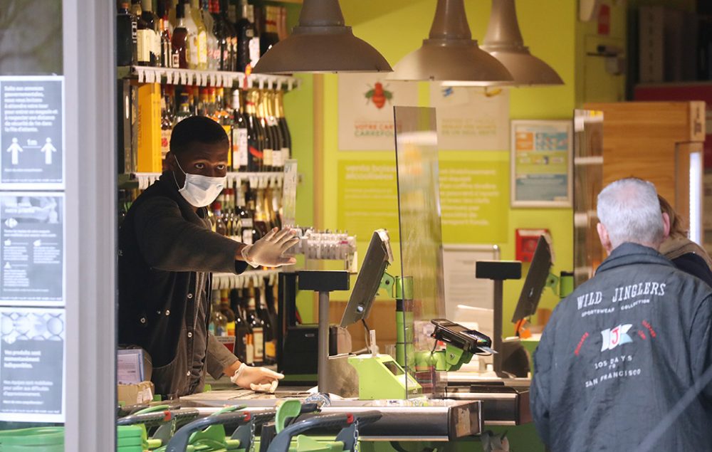
[[[420,46],[426,38],[434,16],[433,0],[342,0],[342,11],[346,23],[353,27],[356,36],[375,46],[389,63],[394,65],[400,58]],[[518,15],[526,45],[532,53],[557,70],[565,80],[565,85],[554,88],[516,88],[511,90],[512,119],[570,119],[575,107],[575,2],[558,0],[519,1]],[[490,6],[488,2],[466,2],[468,21],[473,37],[481,39],[486,31]],[[419,90],[420,105],[427,105],[427,85],[422,83]],[[340,152],[338,149],[337,76],[324,76],[323,93],[323,186],[322,196],[317,202],[323,203],[323,226],[326,228],[348,228],[337,222],[337,178],[338,162],[345,159],[377,160],[394,162],[394,152]],[[318,137],[316,138],[318,140]],[[473,149],[476,151],[476,149]],[[441,151],[444,162],[509,162],[508,149],[489,152],[448,152]],[[318,174],[315,174],[318,177]],[[572,268],[572,211],[571,209],[511,209],[508,202],[498,206],[508,214],[507,239],[496,243],[501,247],[503,259],[513,259],[515,228],[548,228],[554,240],[556,256],[555,271]],[[378,228],[378,224],[373,225]],[[466,235],[461,231],[458,236]],[[362,238],[367,240],[367,238]],[[449,242],[449,238],[444,237]],[[468,243],[478,243],[477,237],[470,237]],[[360,247],[363,249],[363,246]],[[363,256],[363,254],[361,254]],[[525,266],[525,273],[528,266]],[[394,271],[393,273],[399,273]],[[505,284],[504,318],[511,318],[520,281]],[[541,305],[552,308],[556,298],[545,293]],[[513,328],[506,322],[505,333],[512,334]]]

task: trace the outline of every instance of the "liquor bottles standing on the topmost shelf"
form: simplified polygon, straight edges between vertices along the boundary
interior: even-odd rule
[[[173,36],[179,27],[186,34],[177,47]],[[119,4],[116,30],[120,66],[250,73],[286,38],[286,8],[255,9],[247,0],[132,0],[130,6]]]

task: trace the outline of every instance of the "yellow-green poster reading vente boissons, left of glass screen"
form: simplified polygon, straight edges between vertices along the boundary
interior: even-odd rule
[[[348,160],[339,162],[338,228],[359,241],[373,231],[388,229],[391,242],[399,241],[398,185],[395,163]]]

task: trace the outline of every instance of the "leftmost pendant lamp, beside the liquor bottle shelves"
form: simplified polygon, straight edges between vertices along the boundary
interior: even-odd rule
[[[391,71],[375,48],[344,25],[338,0],[304,0],[298,26],[252,70],[271,74]]]

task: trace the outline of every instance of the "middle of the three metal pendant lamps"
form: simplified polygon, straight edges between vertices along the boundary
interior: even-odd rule
[[[429,38],[404,56],[387,79],[489,86],[511,83],[512,75],[472,39],[464,0],[438,0]]]

